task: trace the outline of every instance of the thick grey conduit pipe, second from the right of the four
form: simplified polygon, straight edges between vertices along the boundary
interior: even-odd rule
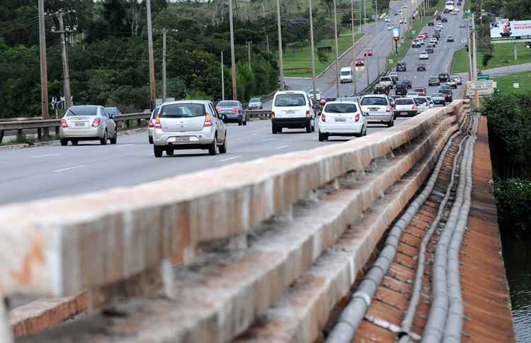
[[[446,317],[449,308],[447,293],[447,251],[452,239],[461,208],[464,203],[464,187],[466,185],[467,159],[469,159],[469,142],[467,142],[461,165],[459,167],[459,185],[455,196],[455,202],[450,210],[442,234],[435,247],[435,261],[432,265],[431,281],[431,306],[426,326],[424,327],[423,343],[440,342],[445,328]]]

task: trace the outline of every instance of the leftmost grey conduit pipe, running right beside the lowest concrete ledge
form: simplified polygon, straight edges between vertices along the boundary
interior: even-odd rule
[[[433,190],[446,153],[450,149],[455,137],[457,137],[459,134],[460,132],[457,131],[450,137],[440,154],[438,162],[435,165],[435,169],[433,170],[433,174],[430,176],[426,187],[415,198],[415,200],[411,202],[411,205],[406,212],[401,215],[400,219],[396,221],[392,229],[389,231],[389,235],[385,241],[384,249],[382,249],[382,252],[375,261],[375,264],[373,264],[370,271],[361,281],[357,291],[350,299],[350,303],[348,303],[346,308],[341,313],[338,322],[333,327],[329,337],[327,337],[326,343],[350,343],[352,341],[352,338],[354,337],[356,330],[358,330],[363,317],[365,317],[365,313],[367,312],[367,308],[370,306],[372,297],[375,295],[379,284],[382,282],[385,274],[387,274],[387,270],[389,270],[389,266],[391,266],[393,262],[402,231],[408,227],[418,209],[421,208],[422,204],[424,201],[426,201],[426,198],[428,198]]]

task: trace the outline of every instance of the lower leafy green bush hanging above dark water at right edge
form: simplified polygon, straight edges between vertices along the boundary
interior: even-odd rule
[[[512,232],[528,230],[531,227],[531,181],[498,180],[494,182],[493,191],[501,227]]]

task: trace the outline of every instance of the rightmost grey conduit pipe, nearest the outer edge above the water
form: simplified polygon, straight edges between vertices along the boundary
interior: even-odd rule
[[[469,159],[467,159],[466,186],[464,189],[464,203],[462,206],[457,227],[452,235],[450,247],[448,247],[448,296],[450,308],[446,318],[445,332],[442,342],[461,342],[463,329],[464,303],[461,294],[461,278],[459,274],[459,251],[467,227],[470,203],[472,203],[472,163],[474,161],[474,143],[476,141],[477,119],[472,130],[472,139],[469,144]]]

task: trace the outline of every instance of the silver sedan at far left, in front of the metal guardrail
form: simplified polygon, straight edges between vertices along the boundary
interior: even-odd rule
[[[80,140],[99,140],[101,145],[116,144],[118,126],[114,115],[107,113],[103,106],[72,106],[64,113],[59,128],[61,145],[77,145]]]

